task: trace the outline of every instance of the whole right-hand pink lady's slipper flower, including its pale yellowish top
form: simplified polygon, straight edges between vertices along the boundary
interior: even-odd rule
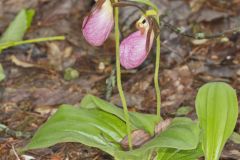
[[[150,25],[145,17],[141,17],[136,26],[138,31],[130,34],[120,45],[120,62],[126,69],[136,68],[143,63],[154,39],[153,30],[150,31],[151,33],[148,32]]]

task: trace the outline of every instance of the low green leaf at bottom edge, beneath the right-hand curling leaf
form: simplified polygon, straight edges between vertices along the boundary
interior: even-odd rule
[[[193,150],[162,148],[158,150],[154,160],[197,160],[202,156],[203,151],[201,145]]]

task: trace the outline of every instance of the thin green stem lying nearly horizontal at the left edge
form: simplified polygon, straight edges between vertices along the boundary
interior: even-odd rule
[[[19,46],[23,44],[29,44],[29,43],[38,43],[38,42],[45,42],[45,41],[60,41],[64,40],[64,36],[56,36],[56,37],[44,37],[44,38],[37,38],[37,39],[29,39],[24,41],[17,41],[17,42],[6,42],[6,43],[0,43],[0,51],[7,49],[9,47]]]

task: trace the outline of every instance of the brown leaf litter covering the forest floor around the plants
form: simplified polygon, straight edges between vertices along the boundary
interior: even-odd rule
[[[186,32],[223,32],[240,26],[239,0],[153,0],[164,20]],[[61,42],[24,45],[0,55],[6,79],[0,83],[0,160],[15,160],[14,151],[25,146],[30,136],[52,115],[60,104],[78,104],[87,93],[106,98],[106,80],[115,66],[114,34],[99,48],[92,47],[81,33],[83,17],[93,0],[1,0],[0,33],[23,8],[34,8],[36,16],[25,39],[65,35]],[[130,15],[130,16],[129,16]],[[135,30],[139,17],[135,8],[121,9],[121,33]],[[196,119],[194,101],[197,89],[211,81],[224,81],[237,90],[240,100],[240,33],[225,38],[195,40],[161,28],[160,86],[162,116],[188,116]],[[19,61],[42,67],[29,67]],[[155,52],[136,70],[122,72],[123,88],[131,110],[156,112],[153,84]],[[64,70],[78,70],[79,78],[64,80]],[[121,107],[118,91],[113,88],[107,99]],[[187,109],[179,113],[179,109]],[[19,131],[19,132],[15,132]],[[240,119],[235,128],[240,133]],[[30,134],[30,136],[29,136]],[[63,143],[26,152],[38,160],[111,160],[97,149],[77,143]],[[229,140],[223,160],[240,160],[239,141]]]

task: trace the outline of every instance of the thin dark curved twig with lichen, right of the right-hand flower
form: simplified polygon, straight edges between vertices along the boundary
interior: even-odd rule
[[[221,38],[221,37],[225,37],[227,36],[227,34],[236,34],[240,32],[240,27],[236,27],[236,28],[232,28],[229,30],[225,30],[223,32],[219,32],[219,33],[214,33],[211,35],[207,35],[206,33],[203,32],[198,32],[198,33],[186,33],[181,27],[175,27],[172,24],[166,22],[165,20],[161,20],[161,22],[163,23],[163,26],[170,29],[171,31],[175,32],[176,34],[179,34],[181,36],[185,36],[188,38],[192,38],[192,39],[215,39],[215,38]]]

